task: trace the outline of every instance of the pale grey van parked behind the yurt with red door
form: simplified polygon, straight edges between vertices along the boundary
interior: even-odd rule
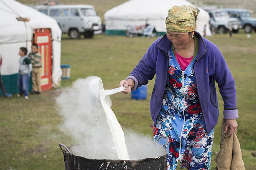
[[[62,33],[70,38],[92,38],[94,31],[101,28],[101,19],[91,5],[38,5],[34,8],[54,19],[59,24]]]

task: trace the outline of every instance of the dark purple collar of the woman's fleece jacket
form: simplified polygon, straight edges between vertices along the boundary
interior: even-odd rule
[[[196,31],[195,34],[198,35],[197,60],[199,60],[207,52],[207,48],[205,47],[203,37],[201,36],[201,34]],[[171,48],[171,41],[167,38],[166,34],[162,36],[162,38],[159,40],[157,47],[168,54]]]

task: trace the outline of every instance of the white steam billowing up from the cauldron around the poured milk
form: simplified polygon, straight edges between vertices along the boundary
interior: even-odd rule
[[[95,108],[90,104],[88,86],[94,79],[98,77],[77,79],[71,87],[61,91],[56,99],[59,114],[63,119],[60,129],[77,142],[70,147],[72,154],[86,158],[118,159],[103,108]],[[111,99],[108,100],[111,103]],[[158,157],[165,154],[158,152],[159,148],[152,145],[153,140],[150,136],[126,132],[125,139],[130,159]]]

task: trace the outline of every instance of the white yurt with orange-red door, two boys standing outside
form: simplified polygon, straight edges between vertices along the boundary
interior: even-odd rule
[[[61,81],[61,30],[55,19],[15,0],[0,0],[1,75],[5,89],[17,93],[19,48],[31,51],[39,45],[42,55],[42,90],[57,87]],[[30,82],[31,88],[31,82]]]

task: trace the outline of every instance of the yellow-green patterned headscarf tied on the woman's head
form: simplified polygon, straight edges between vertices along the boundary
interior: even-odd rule
[[[166,17],[166,30],[173,32],[192,32],[200,10],[191,5],[173,6]]]

